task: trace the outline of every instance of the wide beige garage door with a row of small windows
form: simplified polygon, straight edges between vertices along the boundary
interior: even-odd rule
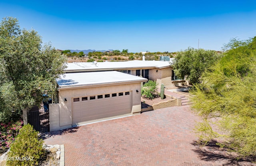
[[[130,91],[72,98],[72,126],[131,113]]]

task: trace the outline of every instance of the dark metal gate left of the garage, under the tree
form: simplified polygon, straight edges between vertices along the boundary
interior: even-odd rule
[[[28,123],[33,126],[36,131],[50,131],[49,111],[37,110],[28,112]]]

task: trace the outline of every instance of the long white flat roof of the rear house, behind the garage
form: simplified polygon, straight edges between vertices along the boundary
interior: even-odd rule
[[[172,62],[174,58],[170,58]],[[132,68],[164,68],[170,67],[170,61],[117,61],[117,62],[73,62],[67,63],[65,71],[79,70],[113,70],[113,69],[132,69]]]

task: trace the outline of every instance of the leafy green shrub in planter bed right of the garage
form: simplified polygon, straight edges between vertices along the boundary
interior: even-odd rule
[[[150,100],[160,97],[156,86],[156,81],[149,80],[145,83],[141,89],[142,97]]]

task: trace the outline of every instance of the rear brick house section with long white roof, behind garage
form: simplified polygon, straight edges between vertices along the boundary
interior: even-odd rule
[[[178,84],[185,83],[178,79],[170,65],[170,61],[116,61],[116,62],[73,62],[68,63],[66,73],[91,72],[91,71],[120,71],[146,79],[155,80],[160,86],[164,84],[166,89],[172,89]]]

